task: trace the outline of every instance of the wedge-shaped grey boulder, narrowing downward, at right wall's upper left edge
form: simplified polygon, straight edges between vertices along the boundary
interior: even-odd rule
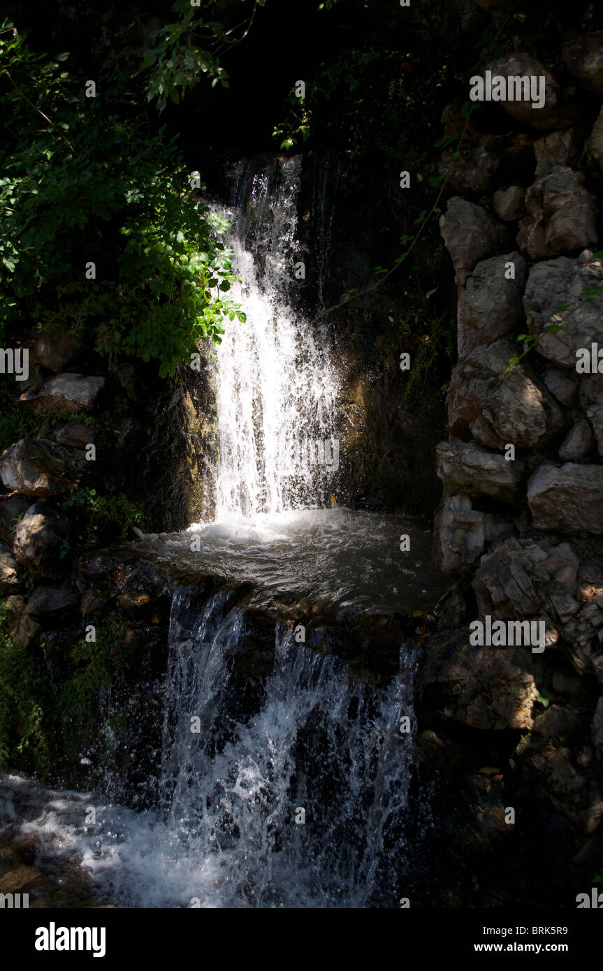
[[[477,263],[507,242],[504,225],[498,222],[483,206],[476,206],[460,196],[449,200],[442,236],[451,254],[456,280],[464,285]]]

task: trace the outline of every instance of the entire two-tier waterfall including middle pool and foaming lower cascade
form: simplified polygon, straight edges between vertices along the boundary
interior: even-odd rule
[[[406,716],[414,726],[412,649],[399,645],[404,674],[392,676],[396,641],[387,677],[366,674],[364,656],[352,676],[341,653],[319,637],[306,644],[274,613],[288,591],[289,603],[291,594],[311,598],[317,634],[320,604],[333,617],[343,611],[341,630],[345,618],[357,630],[368,618],[359,650],[371,652],[389,623],[380,609],[410,612],[438,586],[433,571],[421,573],[424,530],[324,509],[339,457],[338,387],[323,330],[293,310],[300,165],[292,157],[238,167],[230,245],[242,283],[231,295],[247,322],[227,328],[218,348],[217,521],[190,527],[204,538],[198,552],[190,531],[149,538],[155,552],[159,544],[170,559],[200,563],[204,576],[253,587],[255,608],[273,624],[274,657],[258,673],[236,585],[218,584],[201,603],[177,589],[155,808],[136,813],[17,779],[6,790],[8,820],[28,792],[20,830],[37,833],[39,865],[79,854],[96,893],[118,906],[396,906],[408,872],[414,743],[400,725]],[[315,206],[323,243],[327,209]],[[401,529],[413,534],[410,562],[400,558]],[[96,819],[85,824],[90,805]]]

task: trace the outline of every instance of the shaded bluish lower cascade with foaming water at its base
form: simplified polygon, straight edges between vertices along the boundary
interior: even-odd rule
[[[237,714],[226,658],[242,623],[223,594],[192,619],[176,594],[163,809],[47,792],[42,813],[21,826],[40,840],[38,865],[48,868],[58,842],[81,856],[96,894],[121,907],[395,906],[407,852],[413,743],[399,726],[412,718],[409,682],[352,685],[341,661],[283,628],[261,704]],[[9,780],[9,792],[23,785]],[[96,821],[84,826],[90,804]]]

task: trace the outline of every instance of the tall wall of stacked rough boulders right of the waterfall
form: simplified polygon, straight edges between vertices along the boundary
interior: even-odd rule
[[[456,583],[423,669],[423,784],[477,906],[558,905],[603,861],[603,36],[485,70],[547,94],[488,106],[512,134],[469,123],[442,163],[458,360],[435,556]],[[462,131],[457,106],[443,121]],[[477,620],[540,622],[544,647],[480,646]],[[443,905],[468,898],[465,873]]]

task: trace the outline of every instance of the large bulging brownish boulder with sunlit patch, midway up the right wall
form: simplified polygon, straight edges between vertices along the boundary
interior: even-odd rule
[[[490,449],[537,449],[561,430],[561,409],[528,365],[502,377],[514,353],[501,338],[456,364],[448,389],[448,430],[455,438],[469,431]]]

